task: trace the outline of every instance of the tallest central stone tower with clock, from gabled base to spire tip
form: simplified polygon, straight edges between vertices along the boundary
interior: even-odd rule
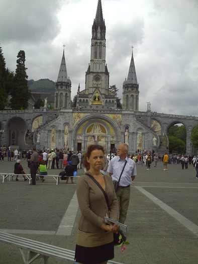
[[[85,90],[78,86],[77,107],[103,105],[117,108],[116,87],[109,88],[109,72],[106,64],[106,25],[101,0],[98,0],[92,25],[90,63],[85,74]]]

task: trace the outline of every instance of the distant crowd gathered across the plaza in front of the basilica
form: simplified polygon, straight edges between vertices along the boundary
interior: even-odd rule
[[[118,150],[113,148],[110,150],[109,154],[106,154],[105,164],[103,173],[107,173],[107,167],[109,161],[117,156]],[[4,147],[3,150],[0,150],[0,161],[4,161],[5,158],[8,158],[8,161],[16,161],[18,159],[30,159],[32,150],[11,150],[10,147]],[[164,160],[165,156],[165,160]],[[151,170],[151,163],[154,163],[154,167],[157,167],[157,163],[162,161],[164,163],[164,170],[167,170],[166,164],[181,164],[182,169],[187,169],[188,164],[194,164],[197,159],[196,156],[183,155],[183,154],[158,154],[152,149],[151,151],[147,150],[137,150],[135,154],[128,154],[128,157],[135,161],[137,165],[147,167],[147,170]],[[44,147],[43,150],[39,151],[39,158],[44,159],[47,169],[64,169],[68,164],[68,161],[71,161],[71,165],[77,169],[82,168],[83,164],[83,153],[81,151],[73,152],[67,151],[65,149],[49,149]],[[166,160],[167,159],[167,160]],[[30,162],[28,162],[28,167],[30,167]],[[85,167],[83,166],[84,171]]]

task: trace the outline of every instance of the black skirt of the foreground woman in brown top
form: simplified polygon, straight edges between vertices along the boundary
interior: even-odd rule
[[[114,258],[114,242],[94,247],[76,245],[75,261],[83,264],[96,264]]]

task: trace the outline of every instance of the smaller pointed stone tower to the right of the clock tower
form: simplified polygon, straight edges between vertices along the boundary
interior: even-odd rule
[[[133,52],[128,77],[123,82],[123,109],[139,111],[139,84],[136,76]]]

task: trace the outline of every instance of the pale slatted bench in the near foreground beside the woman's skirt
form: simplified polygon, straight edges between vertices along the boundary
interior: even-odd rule
[[[19,247],[25,264],[32,263],[38,258],[43,258],[44,263],[48,264],[48,258],[50,256],[58,258],[64,262],[78,263],[74,260],[75,251],[66,248],[53,246],[5,232],[0,232],[0,242]],[[114,260],[109,260],[108,263],[122,264]]]

